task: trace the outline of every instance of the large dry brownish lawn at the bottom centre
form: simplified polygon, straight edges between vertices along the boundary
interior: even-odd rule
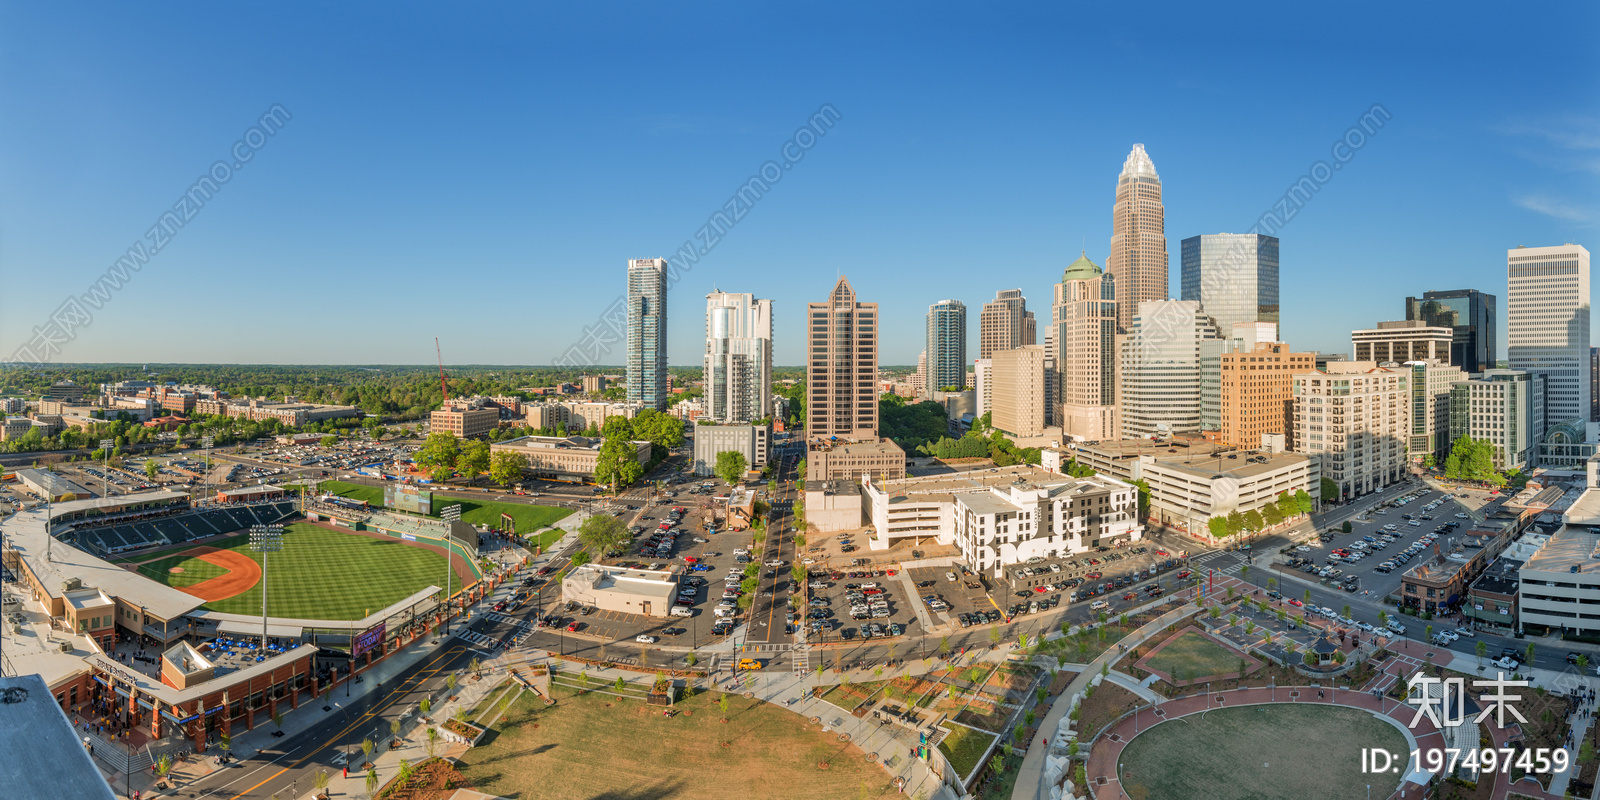
[[[554,694],[557,704],[546,707],[523,693],[461,757],[477,790],[518,800],[906,797],[854,744],[760,701],[728,694],[723,723],[718,693],[680,701],[670,718],[610,694],[562,686]]]

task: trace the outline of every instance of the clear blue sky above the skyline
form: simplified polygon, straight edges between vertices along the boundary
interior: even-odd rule
[[[549,363],[822,104],[842,118],[672,288],[776,301],[776,360],[850,275],[915,363],[928,304],[1104,264],[1144,142],[1178,242],[1243,232],[1373,104],[1280,237],[1283,336],[1347,350],[1506,248],[1600,219],[1592,3],[6,3],[0,350],[83,294],[246,128],[293,118],[62,362]],[[869,5],[870,8],[861,8]],[[1600,328],[1597,328],[1600,330]],[[1504,352],[1504,350],[1502,350]],[[608,363],[621,363],[614,352]]]

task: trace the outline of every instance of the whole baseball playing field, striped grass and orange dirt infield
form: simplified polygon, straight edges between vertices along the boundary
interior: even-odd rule
[[[205,608],[261,613],[261,558],[245,534],[206,546],[179,546],[123,565],[182,589]],[[469,568],[456,558],[454,587]],[[267,565],[267,613],[293,619],[360,619],[427,589],[445,586],[443,549],[387,536],[296,522],[283,530],[283,550]]]

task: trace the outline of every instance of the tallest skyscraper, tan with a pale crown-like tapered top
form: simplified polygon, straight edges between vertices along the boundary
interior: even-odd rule
[[[1166,299],[1166,208],[1162,178],[1142,144],[1133,146],[1117,176],[1106,270],[1117,278],[1118,330],[1133,328],[1141,302]]]

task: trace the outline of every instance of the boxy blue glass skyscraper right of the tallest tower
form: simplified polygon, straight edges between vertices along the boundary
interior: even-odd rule
[[[1278,322],[1278,238],[1206,234],[1181,243],[1182,299],[1200,302],[1222,331],[1238,322]]]

